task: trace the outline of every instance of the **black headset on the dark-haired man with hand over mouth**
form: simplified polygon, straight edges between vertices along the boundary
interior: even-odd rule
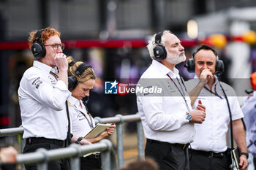
[[[214,52],[214,54],[216,55],[216,58],[217,58],[216,66],[215,66],[215,73],[219,74],[219,75],[222,74],[224,72],[224,63],[222,60],[219,60],[218,53],[212,47],[209,47],[208,45],[201,45],[200,47],[197,48],[197,50],[195,50],[195,52],[192,54],[192,58],[189,58],[189,60],[187,61],[187,64],[185,65],[185,67],[187,67],[187,71],[195,72],[195,55],[200,50],[211,50],[212,52]]]

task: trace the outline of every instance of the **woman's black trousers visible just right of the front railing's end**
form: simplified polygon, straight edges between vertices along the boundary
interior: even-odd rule
[[[102,165],[100,162],[100,155],[89,155],[80,158],[80,169],[81,170],[101,170]]]

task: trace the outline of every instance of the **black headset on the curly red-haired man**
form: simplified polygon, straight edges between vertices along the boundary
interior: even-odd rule
[[[45,45],[43,44],[43,41],[38,42],[39,39],[42,40],[41,38],[42,31],[44,31],[44,29],[40,29],[39,31],[37,31],[37,33],[34,36],[33,45],[31,47],[31,51],[34,57],[37,59],[44,58],[46,54]]]

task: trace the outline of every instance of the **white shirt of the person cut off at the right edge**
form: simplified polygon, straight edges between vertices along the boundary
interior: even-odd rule
[[[244,98],[244,105],[241,109],[244,112],[247,150],[256,155],[256,91],[252,96]]]

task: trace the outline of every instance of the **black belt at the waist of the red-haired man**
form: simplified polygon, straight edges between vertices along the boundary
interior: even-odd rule
[[[47,144],[56,144],[59,147],[65,147],[66,142],[58,139],[47,139],[47,138],[36,138],[36,137],[31,137],[26,139],[26,144],[42,144],[42,143],[47,143]]]

